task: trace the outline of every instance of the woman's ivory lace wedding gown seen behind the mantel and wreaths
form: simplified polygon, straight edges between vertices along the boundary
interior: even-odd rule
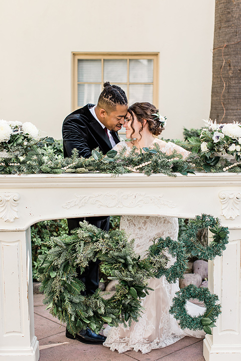
[[[168,143],[167,143],[168,144]],[[172,147],[170,145],[169,149]],[[120,145],[117,144],[118,150]],[[173,144],[174,145],[174,144]],[[126,144],[127,152],[131,150]],[[182,148],[181,148],[182,149]],[[182,149],[183,150],[183,149]],[[186,154],[185,154],[186,155]],[[120,228],[124,229],[130,239],[135,239],[135,251],[141,257],[145,257],[146,251],[156,237],[171,237],[177,240],[178,219],[172,217],[149,217],[149,216],[122,216]],[[169,266],[174,262],[169,261]],[[179,290],[178,281],[175,284],[167,282],[165,276],[160,279],[153,278],[149,281],[149,286],[154,289],[143,299],[144,311],[138,322],[132,322],[130,327],[119,325],[109,328],[107,338],[103,343],[111,351],[117,350],[119,353],[131,349],[150,352],[152,349],[168,346],[186,335],[202,337],[203,331],[183,331],[176,319],[169,314],[172,298]],[[188,312],[191,314],[203,313],[203,308],[187,303]]]

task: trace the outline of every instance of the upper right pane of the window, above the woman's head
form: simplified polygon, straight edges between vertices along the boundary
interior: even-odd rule
[[[153,82],[153,60],[152,59],[130,59],[130,82],[152,83]]]

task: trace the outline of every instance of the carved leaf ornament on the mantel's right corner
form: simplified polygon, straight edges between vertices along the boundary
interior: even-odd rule
[[[240,192],[221,191],[219,192],[218,197],[222,204],[222,216],[232,220],[239,216],[239,203],[241,200]]]

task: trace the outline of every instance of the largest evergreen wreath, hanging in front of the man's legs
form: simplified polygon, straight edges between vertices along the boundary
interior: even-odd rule
[[[71,236],[51,238],[51,249],[38,269],[38,279],[45,293],[44,303],[50,313],[67,324],[72,334],[90,327],[98,332],[103,323],[118,325],[126,321],[138,321],[142,310],[141,297],[150,288],[148,278],[153,276],[153,263],[141,260],[134,252],[124,231],[109,233],[87,222],[80,223]],[[84,296],[84,284],[77,278],[76,268],[82,273],[89,261],[99,259],[111,266],[110,279],[119,284],[109,299],[97,290]],[[156,266],[164,265],[166,259],[159,256]]]

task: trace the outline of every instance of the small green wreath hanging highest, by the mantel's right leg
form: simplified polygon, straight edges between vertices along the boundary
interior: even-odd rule
[[[213,239],[208,246],[203,246],[197,240],[197,232],[200,229],[209,228],[213,233]],[[189,220],[188,228],[182,241],[187,248],[187,252],[200,259],[212,260],[216,256],[221,256],[222,251],[226,249],[228,243],[228,228],[220,225],[220,220],[211,215],[202,214],[196,216],[193,220]]]

